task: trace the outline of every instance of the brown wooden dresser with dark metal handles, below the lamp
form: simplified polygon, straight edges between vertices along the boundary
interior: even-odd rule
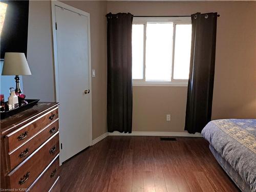
[[[1,191],[60,191],[58,103],[1,120]]]

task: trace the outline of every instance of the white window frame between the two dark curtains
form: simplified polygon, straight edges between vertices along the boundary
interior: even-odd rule
[[[147,23],[165,23],[172,22],[174,26],[173,31],[173,47],[172,47],[172,68],[170,81],[146,81],[146,25]],[[133,79],[133,86],[160,86],[160,87],[187,87],[188,79],[174,79],[174,55],[175,55],[175,32],[177,24],[191,24],[191,17],[134,17],[133,25],[144,25],[144,39],[143,39],[143,79]]]

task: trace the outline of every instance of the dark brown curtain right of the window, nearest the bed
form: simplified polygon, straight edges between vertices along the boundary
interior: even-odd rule
[[[214,89],[217,13],[191,15],[191,59],[185,130],[201,132],[211,120]]]

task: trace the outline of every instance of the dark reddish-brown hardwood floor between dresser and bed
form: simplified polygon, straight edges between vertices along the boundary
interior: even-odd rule
[[[61,191],[239,191],[203,138],[109,136],[61,166]]]

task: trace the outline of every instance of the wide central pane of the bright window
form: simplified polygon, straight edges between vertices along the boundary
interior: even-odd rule
[[[146,80],[170,81],[173,23],[147,23]]]

